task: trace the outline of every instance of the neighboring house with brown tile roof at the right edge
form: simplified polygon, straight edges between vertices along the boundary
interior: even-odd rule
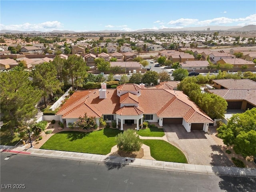
[[[249,79],[213,80],[210,93],[221,96],[228,102],[227,109],[252,109],[256,107],[256,82]]]

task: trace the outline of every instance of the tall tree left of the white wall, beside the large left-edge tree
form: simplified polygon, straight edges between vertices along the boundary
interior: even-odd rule
[[[47,107],[46,96],[49,95],[52,98],[52,94],[56,93],[57,90],[61,90],[62,84],[56,79],[56,75],[57,71],[54,65],[47,62],[36,65],[30,74],[33,85],[42,90],[45,107]]]

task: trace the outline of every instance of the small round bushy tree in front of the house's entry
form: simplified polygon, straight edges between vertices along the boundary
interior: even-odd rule
[[[139,136],[132,129],[119,133],[116,136],[116,143],[118,150],[126,152],[139,151],[142,146]]]

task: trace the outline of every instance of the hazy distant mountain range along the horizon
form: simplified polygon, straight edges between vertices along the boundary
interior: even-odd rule
[[[49,32],[42,31],[18,31],[18,30],[0,30],[0,33],[129,33],[129,32],[182,32],[182,31],[230,31],[230,32],[249,32],[256,31],[256,25],[247,26],[203,26],[203,27],[187,27],[187,28],[164,28],[159,30],[154,29],[140,29],[134,31],[122,31],[122,30],[100,30],[100,31],[85,31],[85,32],[75,32],[70,30],[53,30]]]

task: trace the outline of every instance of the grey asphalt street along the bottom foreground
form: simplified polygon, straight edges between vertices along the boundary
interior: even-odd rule
[[[6,157],[8,160],[4,160]],[[0,160],[1,192],[256,191],[256,178],[248,177],[189,174],[4,152]]]

